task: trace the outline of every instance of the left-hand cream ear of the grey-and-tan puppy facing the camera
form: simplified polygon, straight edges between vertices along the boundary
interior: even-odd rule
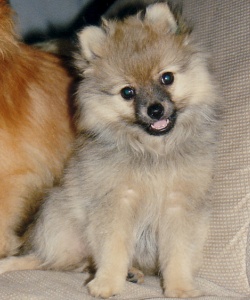
[[[105,38],[105,31],[97,26],[88,26],[78,34],[81,54],[87,61],[101,56]]]

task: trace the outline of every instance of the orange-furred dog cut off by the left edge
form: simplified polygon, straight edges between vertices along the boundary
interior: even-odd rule
[[[0,257],[20,245],[16,231],[62,172],[73,127],[71,76],[55,56],[18,42],[0,1]]]

